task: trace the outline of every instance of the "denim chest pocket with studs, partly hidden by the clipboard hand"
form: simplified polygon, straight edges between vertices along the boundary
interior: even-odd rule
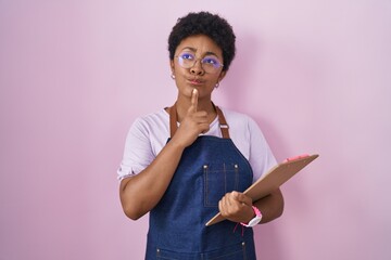
[[[239,167],[237,164],[209,164],[203,166],[204,206],[218,207],[222,197],[238,191]]]

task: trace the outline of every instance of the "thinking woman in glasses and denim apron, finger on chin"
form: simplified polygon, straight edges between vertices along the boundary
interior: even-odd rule
[[[179,18],[168,38],[177,100],[130,128],[119,195],[130,219],[150,212],[146,259],[255,259],[252,226],[282,213],[279,190],[254,203],[242,193],[276,164],[261,130],[212,102],[235,38],[218,15]],[[205,226],[218,211],[227,220]]]

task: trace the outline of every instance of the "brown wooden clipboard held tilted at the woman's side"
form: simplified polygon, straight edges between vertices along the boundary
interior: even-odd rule
[[[293,158],[286,159],[283,162],[273,167],[266,174],[263,174],[256,182],[248,187],[243,193],[252,198],[253,202],[258,200],[270,194],[274,190],[281,186],[285,182],[291,179],[295,173],[311,164],[319,155],[301,155]],[[220,212],[215,214],[206,226],[213,225],[225,220]]]

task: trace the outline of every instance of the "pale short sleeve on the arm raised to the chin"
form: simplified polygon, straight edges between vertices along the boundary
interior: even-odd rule
[[[124,156],[117,170],[118,180],[139,173],[155,158],[149,135],[147,123],[136,119],[126,136]]]

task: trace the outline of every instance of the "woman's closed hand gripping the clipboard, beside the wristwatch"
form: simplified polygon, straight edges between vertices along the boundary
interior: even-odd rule
[[[248,223],[254,218],[251,197],[239,192],[227,193],[219,202],[222,216],[234,222]]]

